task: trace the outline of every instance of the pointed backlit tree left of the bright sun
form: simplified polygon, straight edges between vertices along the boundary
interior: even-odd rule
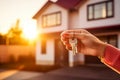
[[[16,21],[8,33],[6,34],[6,44],[26,44],[27,41],[21,37],[22,29],[20,28],[20,20]]]

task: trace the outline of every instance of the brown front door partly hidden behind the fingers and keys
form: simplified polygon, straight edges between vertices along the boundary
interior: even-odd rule
[[[61,67],[69,65],[68,51],[60,39],[55,40],[55,64]]]

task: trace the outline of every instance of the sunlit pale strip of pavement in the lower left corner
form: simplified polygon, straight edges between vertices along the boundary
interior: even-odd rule
[[[0,80],[26,80],[41,76],[40,72],[29,72],[19,70],[0,70]]]

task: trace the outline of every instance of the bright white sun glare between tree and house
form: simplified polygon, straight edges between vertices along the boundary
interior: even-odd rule
[[[35,40],[37,38],[37,29],[35,20],[22,20],[21,27],[23,29],[22,37],[28,40]]]

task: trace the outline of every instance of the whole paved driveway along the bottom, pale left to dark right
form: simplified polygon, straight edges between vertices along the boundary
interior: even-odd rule
[[[3,70],[1,73],[6,75]],[[5,71],[6,72],[6,71]],[[7,71],[9,73],[9,71]],[[13,74],[14,73],[14,74]],[[11,74],[11,75],[10,75]],[[8,74],[7,74],[8,75]],[[10,71],[0,80],[120,80],[120,75],[105,66],[76,66],[57,69],[48,73]]]

